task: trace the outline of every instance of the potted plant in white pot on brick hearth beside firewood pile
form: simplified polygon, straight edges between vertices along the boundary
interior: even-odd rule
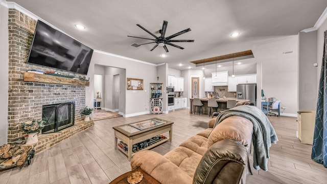
[[[35,144],[38,142],[37,134],[44,128],[45,123],[43,120],[37,121],[34,119],[20,123],[22,129],[28,136],[26,144]]]

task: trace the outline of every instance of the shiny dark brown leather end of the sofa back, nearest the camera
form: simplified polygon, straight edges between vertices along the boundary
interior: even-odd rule
[[[238,141],[225,139],[213,144],[202,156],[193,184],[246,182],[246,148]]]

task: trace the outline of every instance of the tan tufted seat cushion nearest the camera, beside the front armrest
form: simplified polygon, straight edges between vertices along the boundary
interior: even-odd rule
[[[179,146],[164,155],[173,164],[183,170],[187,175],[193,178],[196,167],[198,166],[202,155],[190,150],[189,148]]]

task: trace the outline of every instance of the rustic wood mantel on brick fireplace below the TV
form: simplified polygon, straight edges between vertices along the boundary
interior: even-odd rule
[[[65,77],[58,77],[58,76],[51,76],[51,75],[45,75],[45,74],[34,74],[34,73],[30,73],[30,72],[25,72],[23,74],[23,80],[25,82],[89,86],[89,81],[71,79],[71,78],[65,78]]]

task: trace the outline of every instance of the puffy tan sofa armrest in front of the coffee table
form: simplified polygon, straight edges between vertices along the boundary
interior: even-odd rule
[[[141,168],[162,184],[192,183],[192,178],[166,157],[154,151],[141,151],[131,159],[132,170]]]

